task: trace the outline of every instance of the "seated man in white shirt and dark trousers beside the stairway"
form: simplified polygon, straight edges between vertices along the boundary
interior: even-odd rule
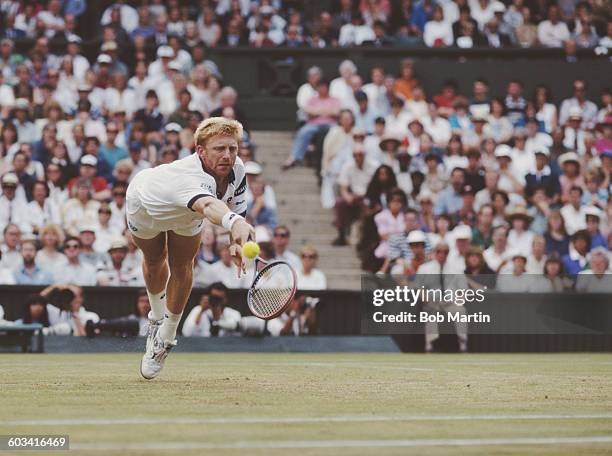
[[[365,158],[361,145],[353,148],[353,160],[347,162],[338,176],[340,197],[336,200],[336,228],[338,238],[333,245],[347,245],[346,236],[354,221],[361,218],[365,210],[365,194],[376,164]]]

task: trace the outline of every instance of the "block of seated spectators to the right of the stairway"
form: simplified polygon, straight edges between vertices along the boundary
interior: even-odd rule
[[[526,93],[511,80],[490,93],[479,78],[472,93],[449,80],[426,94],[411,60],[397,77],[373,66],[367,83],[349,60],[339,73],[329,82],[308,71],[284,168],[305,159],[317,168],[321,203],[336,213],[334,245],[352,237],[363,269],[414,276],[441,249],[438,272],[545,274],[555,290],[568,286],[556,278],[594,273],[600,284],[588,288],[605,284],[609,90],[591,94],[577,79],[555,104],[545,85]]]

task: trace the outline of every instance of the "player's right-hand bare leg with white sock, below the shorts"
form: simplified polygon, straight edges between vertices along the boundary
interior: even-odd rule
[[[168,265],[170,279],[167,287],[168,318],[164,319],[159,335],[164,342],[172,342],[181,315],[191,294],[193,285],[193,260],[200,247],[201,235],[182,236],[168,231]]]

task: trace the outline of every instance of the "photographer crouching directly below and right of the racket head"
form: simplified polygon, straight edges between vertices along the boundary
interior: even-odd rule
[[[272,336],[304,336],[314,334],[319,299],[296,293],[289,307],[280,317],[267,325]]]

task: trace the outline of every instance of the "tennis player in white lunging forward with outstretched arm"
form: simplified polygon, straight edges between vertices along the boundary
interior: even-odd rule
[[[193,260],[204,218],[230,231],[239,273],[241,249],[255,231],[246,214],[244,165],[237,158],[242,125],[212,117],[195,132],[196,152],[138,173],[127,191],[127,222],[144,254],[142,264],[151,302],[147,347],[140,373],[159,375],[176,345],[176,329],[192,286]]]

